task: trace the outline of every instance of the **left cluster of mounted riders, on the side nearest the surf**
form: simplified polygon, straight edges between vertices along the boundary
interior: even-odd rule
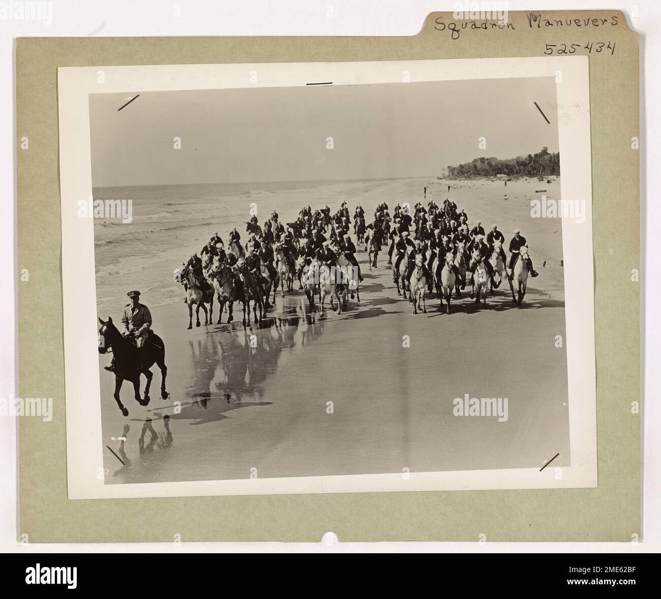
[[[217,233],[200,251],[192,255],[182,268],[175,271],[176,279],[186,290],[189,323],[192,328],[192,306],[196,305],[197,326],[200,326],[199,309],[205,313],[205,325],[213,318],[214,295],[220,303],[220,314],[228,307],[228,322],[233,320],[232,309],[235,301],[243,304],[243,322],[250,323],[250,301],[253,301],[253,314],[261,321],[264,311],[270,309],[270,294],[273,303],[278,285],[284,296],[285,287],[293,288],[294,280],[303,284],[305,267],[313,264],[317,268],[334,268],[338,262],[356,268],[357,280],[361,282],[360,266],[356,259],[356,246],[348,231],[349,211],[346,202],[331,216],[328,206],[312,211],[310,206],[302,208],[298,218],[283,224],[277,212],[273,212],[260,227],[256,216],[246,223],[247,241],[242,245],[241,233],[234,228],[227,237],[227,246]],[[352,290],[353,291],[353,290]],[[317,285],[317,292],[319,286]],[[321,292],[319,292],[321,294]],[[313,291],[308,298],[313,304]],[[353,293],[352,293],[353,297]],[[338,298],[339,299],[339,298]],[[210,305],[207,317],[205,303]],[[332,303],[332,298],[331,298]],[[346,301],[345,301],[346,304]],[[259,310],[259,317],[257,317]]]

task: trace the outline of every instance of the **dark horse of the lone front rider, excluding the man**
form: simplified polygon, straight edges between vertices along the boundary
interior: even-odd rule
[[[128,409],[122,405],[120,400],[120,389],[124,381],[133,383],[136,393],[136,401],[142,406],[149,405],[149,387],[151,385],[151,366],[154,363],[161,369],[161,397],[167,399],[169,393],[165,391],[165,376],[167,366],[165,366],[165,344],[163,340],[155,333],[149,332],[149,337],[143,348],[143,356],[140,356],[136,344],[131,337],[123,337],[122,333],[112,323],[112,318],[104,322],[98,319],[101,328],[98,329],[98,353],[106,354],[112,350],[114,360],[112,361],[112,372],[115,375],[115,392],[113,397],[117,402],[119,409],[124,416],[128,416]],[[141,363],[140,360],[143,360]],[[145,375],[147,384],[145,385],[145,397],[140,397],[140,375]]]

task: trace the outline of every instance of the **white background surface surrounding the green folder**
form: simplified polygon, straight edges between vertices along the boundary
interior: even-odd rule
[[[181,17],[173,17],[173,5],[181,6]],[[327,17],[327,6],[333,16]],[[15,38],[22,36],[410,36],[422,27],[433,11],[452,11],[453,2],[432,0],[114,0],[63,1],[52,3],[52,24],[0,20],[0,256],[5,276],[0,278],[0,397],[16,389],[16,282],[20,265],[16,260],[15,236]],[[17,541],[16,514],[16,422],[0,418],[0,551],[3,552],[76,552],[122,551],[478,551],[543,552],[625,552],[648,553],[661,550],[660,434],[658,378],[661,350],[658,335],[661,312],[658,310],[658,282],[647,281],[646,272],[658,272],[660,251],[648,231],[661,225],[658,191],[661,189],[661,155],[656,136],[660,132],[661,105],[659,57],[661,56],[661,3],[617,1],[516,1],[508,2],[510,11],[620,9],[629,25],[641,35],[641,285],[644,305],[642,317],[644,362],[644,501],[642,543],[99,543],[95,545],[24,545]],[[652,165],[650,171],[647,166]],[[633,215],[623,215],[623,218]],[[7,271],[14,270],[14,276]],[[645,307],[648,305],[648,308]],[[340,539],[341,541],[341,539]]]

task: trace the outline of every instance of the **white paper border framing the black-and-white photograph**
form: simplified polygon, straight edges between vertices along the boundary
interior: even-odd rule
[[[103,83],[99,83],[103,71]],[[258,82],[251,83],[251,71]],[[92,195],[89,94],[188,89],[332,85],[557,77],[561,197],[583,198],[584,223],[563,218],[566,358],[570,466],[562,477],[553,464],[538,468],[410,472],[226,481],[106,485],[103,470],[97,347],[93,220],[78,218],[77,202]],[[234,63],[59,67],[59,165],[62,294],[69,499],[566,489],[597,486],[592,163],[587,56],[343,63]],[[556,79],[558,81],[558,79]],[[549,459],[553,456],[549,456]]]

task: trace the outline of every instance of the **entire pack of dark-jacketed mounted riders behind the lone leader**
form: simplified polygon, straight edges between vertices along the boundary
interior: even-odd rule
[[[443,206],[433,200],[426,206],[418,202],[410,211],[408,204],[397,204],[393,215],[389,214],[387,204],[377,206],[373,221],[366,224],[365,210],[358,205],[353,216],[354,235],[360,245],[365,244],[368,251],[369,269],[377,266],[377,255],[384,245],[388,245],[388,262],[393,268],[393,282],[398,294],[406,297],[412,294],[412,282],[420,288],[424,278],[424,288],[428,293],[436,286],[438,296],[446,299],[449,311],[451,289],[463,289],[471,282],[473,292],[477,288],[477,301],[485,298],[487,286],[498,288],[503,274],[510,280],[512,296],[514,288],[514,266],[522,255],[522,248],[527,249],[525,237],[515,229],[510,240],[508,260],[504,251],[504,235],[496,224],[485,233],[481,221],[469,228],[465,210],[457,209],[457,204],[447,198]],[[323,292],[319,282],[313,288],[304,285],[302,277],[305,268],[336,268],[338,264],[348,264],[356,269],[357,282],[345,288],[345,293],[353,292],[362,282],[360,266],[356,260],[356,245],[349,235],[350,213],[346,202],[331,214],[329,206],[315,211],[310,206],[299,212],[295,221],[281,223],[277,212],[264,221],[260,227],[256,216],[246,223],[247,241],[242,245],[241,233],[237,229],[230,231],[227,246],[217,233],[200,251],[182,264],[177,278],[186,290],[186,302],[189,310],[188,328],[192,328],[192,306],[196,305],[197,325],[200,326],[199,309],[205,313],[205,325],[213,318],[214,296],[220,303],[220,315],[225,305],[228,306],[228,322],[232,321],[234,301],[243,304],[243,321],[250,322],[250,301],[253,301],[253,314],[256,321],[261,321],[264,311],[270,309],[270,293],[273,303],[278,286],[282,296],[285,286],[292,290],[294,280],[299,281],[299,289],[305,289],[311,305],[314,294],[319,294],[323,307]],[[527,272],[537,276],[527,251],[523,254]],[[507,268],[506,268],[507,267]],[[418,270],[416,270],[418,269]],[[447,272],[444,283],[443,271]],[[478,275],[475,273],[478,272]],[[448,285],[451,279],[451,284]],[[400,290],[400,282],[402,290]],[[449,287],[449,290],[447,288]],[[445,290],[445,292],[444,292]],[[473,297],[471,292],[471,297]],[[525,289],[524,289],[525,293]],[[332,305],[332,291],[331,305]],[[521,293],[520,293],[521,296]],[[339,296],[338,301],[340,299]],[[360,298],[360,296],[359,296]],[[410,298],[412,301],[412,298]],[[420,294],[418,294],[418,300]],[[424,294],[422,294],[424,300]],[[514,298],[515,301],[516,298]],[[207,317],[205,303],[210,305]],[[519,299],[520,303],[520,299]],[[346,305],[346,296],[344,304]],[[419,301],[418,301],[419,307]],[[259,310],[259,318],[257,317]]]

